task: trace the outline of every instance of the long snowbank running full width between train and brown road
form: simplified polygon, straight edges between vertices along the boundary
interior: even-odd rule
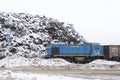
[[[56,67],[70,69],[99,69],[99,70],[120,70],[120,62],[107,61],[107,60],[94,60],[87,64],[74,64],[65,61],[60,58],[53,59],[41,59],[41,58],[25,58],[18,55],[13,55],[0,60],[1,68],[13,68],[13,67],[25,67],[25,66],[44,66],[44,67]],[[66,69],[66,68],[64,68]]]

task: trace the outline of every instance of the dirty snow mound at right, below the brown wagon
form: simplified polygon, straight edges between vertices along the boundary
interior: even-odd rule
[[[98,59],[88,64],[82,65],[80,69],[102,69],[102,70],[120,69],[120,62]]]

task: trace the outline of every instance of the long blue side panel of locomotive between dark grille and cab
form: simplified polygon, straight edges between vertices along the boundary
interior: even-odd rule
[[[89,55],[90,45],[62,45],[60,55]]]

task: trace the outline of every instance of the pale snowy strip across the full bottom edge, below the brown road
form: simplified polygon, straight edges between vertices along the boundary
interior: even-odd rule
[[[0,80],[119,80],[119,75],[59,75],[30,72],[0,71]]]

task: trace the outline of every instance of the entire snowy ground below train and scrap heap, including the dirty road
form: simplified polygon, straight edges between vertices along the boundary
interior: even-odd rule
[[[40,69],[42,67],[42,70]],[[44,68],[47,72],[44,72]],[[62,67],[62,69],[61,69]],[[18,68],[18,69],[17,69]],[[27,70],[28,68],[28,70]],[[38,69],[34,69],[38,68]],[[48,68],[48,69],[46,69]],[[56,69],[57,68],[57,69]],[[23,70],[22,70],[23,69]],[[59,73],[56,74],[54,71]],[[119,80],[117,74],[71,74],[65,70],[116,70],[120,71],[120,62],[95,60],[88,64],[69,63],[63,59],[25,58],[18,55],[0,60],[0,80]],[[63,73],[62,73],[63,72]],[[64,73],[65,72],[65,73]],[[114,72],[115,73],[115,72]]]

